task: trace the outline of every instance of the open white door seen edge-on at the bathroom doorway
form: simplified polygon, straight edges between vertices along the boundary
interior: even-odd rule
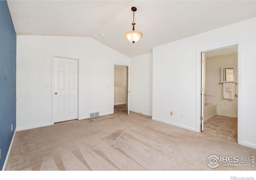
[[[205,96],[205,52],[201,53],[201,131],[204,131],[204,96]]]

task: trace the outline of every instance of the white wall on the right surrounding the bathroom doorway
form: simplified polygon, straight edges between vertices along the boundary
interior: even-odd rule
[[[199,132],[199,52],[238,43],[238,143],[256,148],[255,24],[252,18],[153,48],[152,119]]]

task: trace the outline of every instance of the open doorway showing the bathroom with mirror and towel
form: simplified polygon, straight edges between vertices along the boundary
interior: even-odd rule
[[[238,45],[204,52],[203,132],[238,141]],[[222,72],[223,69],[224,73]],[[234,80],[225,80],[232,69]]]

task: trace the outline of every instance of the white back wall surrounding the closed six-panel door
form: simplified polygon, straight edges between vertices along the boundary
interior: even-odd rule
[[[128,57],[89,37],[17,36],[17,130],[53,124],[52,54],[79,58],[79,119],[114,113],[114,64]]]

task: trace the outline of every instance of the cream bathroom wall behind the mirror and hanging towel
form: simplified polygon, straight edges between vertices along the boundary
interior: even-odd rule
[[[207,52],[206,52],[207,53]],[[238,54],[225,54],[206,58],[206,89],[205,102],[210,102],[215,98],[214,104],[217,104],[217,114],[237,118],[238,98],[234,100],[223,98],[223,84],[221,82],[221,67],[236,66],[236,82],[238,77],[237,69]],[[235,84],[235,94],[238,94],[238,84]],[[211,95],[215,95],[214,97]]]

